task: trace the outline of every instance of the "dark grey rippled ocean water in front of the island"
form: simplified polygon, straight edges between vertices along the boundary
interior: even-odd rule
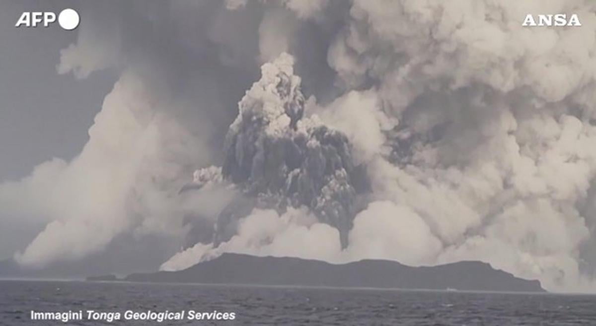
[[[32,321],[32,310],[83,311],[83,319]],[[120,319],[88,320],[88,310]],[[126,311],[185,311],[185,319],[135,321]],[[189,320],[189,311],[234,312],[235,319]],[[596,296],[0,281],[0,325],[596,325]]]

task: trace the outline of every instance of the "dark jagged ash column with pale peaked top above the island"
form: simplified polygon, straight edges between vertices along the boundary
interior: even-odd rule
[[[254,207],[284,212],[288,206],[306,206],[319,221],[336,227],[346,246],[357,193],[364,188],[354,180],[362,172],[353,165],[343,133],[316,117],[303,117],[305,99],[293,58],[283,54],[263,65],[261,79],[238,105],[226,136],[222,174],[243,196],[219,215],[215,244],[229,240],[238,219]]]

